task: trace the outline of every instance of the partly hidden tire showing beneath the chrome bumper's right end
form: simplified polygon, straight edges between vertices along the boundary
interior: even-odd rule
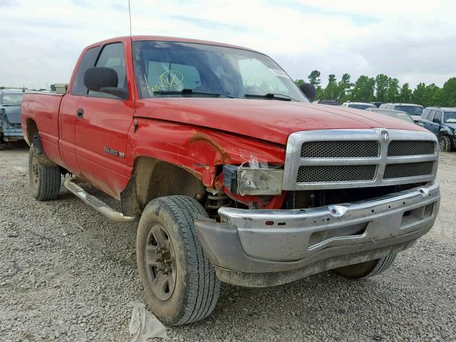
[[[395,258],[396,254],[389,254],[381,259],[338,267],[333,271],[348,279],[366,279],[386,271],[393,264]]]

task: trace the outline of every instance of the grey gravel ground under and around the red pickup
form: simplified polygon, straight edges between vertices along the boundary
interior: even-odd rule
[[[129,303],[143,302],[135,224],[108,222],[63,187],[57,201],[34,201],[27,157],[25,147],[0,151],[0,341],[130,341]],[[456,341],[455,170],[456,153],[443,153],[437,223],[390,271],[366,281],[326,272],[269,289],[224,285],[212,316],[168,336]]]

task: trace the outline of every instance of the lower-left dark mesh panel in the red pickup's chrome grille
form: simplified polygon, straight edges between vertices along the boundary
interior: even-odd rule
[[[296,182],[355,182],[374,180],[377,165],[300,166]]]

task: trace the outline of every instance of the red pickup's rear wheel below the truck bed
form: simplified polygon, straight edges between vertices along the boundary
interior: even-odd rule
[[[33,197],[38,201],[56,199],[60,192],[60,167],[41,165],[33,145],[28,152],[28,180]]]

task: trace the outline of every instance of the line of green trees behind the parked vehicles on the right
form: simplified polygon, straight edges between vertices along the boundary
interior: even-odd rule
[[[342,75],[337,81],[336,75],[328,76],[328,85],[321,86],[321,73],[312,71],[308,78],[309,83],[316,87],[316,99],[337,100],[339,103],[346,101],[355,102],[383,102],[383,103],[416,103],[429,107],[456,107],[456,77],[450,78],[440,88],[434,83],[425,85],[418,83],[415,89],[410,89],[408,83],[399,85],[398,78],[391,78],[380,73],[374,77],[360,76],[356,82],[351,82],[349,73]],[[296,80],[300,86],[304,80]]]

